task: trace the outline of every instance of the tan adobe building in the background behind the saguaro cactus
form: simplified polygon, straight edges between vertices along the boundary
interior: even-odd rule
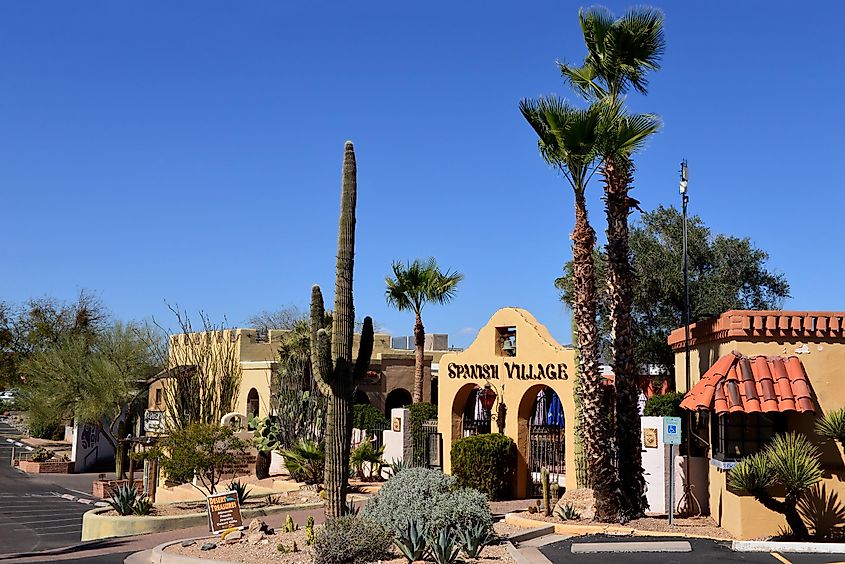
[[[170,337],[170,373],[188,370],[196,357],[204,352],[186,353],[191,346],[209,347],[211,355],[232,357],[240,365],[241,382],[235,402],[235,412],[244,415],[265,416],[270,409],[270,386],[273,370],[278,361],[278,350],[286,330],[270,330],[262,333],[255,329],[231,329],[215,332],[208,344],[198,344],[205,337],[203,333],[178,334]],[[358,354],[361,336],[355,335],[353,357]],[[190,340],[193,340],[193,345]],[[401,348],[394,348],[393,345]],[[423,401],[436,398],[437,363],[448,350],[448,335],[426,335],[423,367]],[[433,370],[433,371],[432,371]],[[150,412],[165,411],[167,378],[158,378],[150,384],[147,409]],[[432,394],[432,389],[435,389]],[[358,384],[356,403],[369,403],[385,413],[394,407],[411,403],[414,389],[413,338],[391,338],[376,333],[370,370],[363,382]]]

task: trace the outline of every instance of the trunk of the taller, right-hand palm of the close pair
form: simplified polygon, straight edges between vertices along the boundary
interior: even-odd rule
[[[634,359],[634,273],[628,242],[628,191],[633,165],[607,159],[602,168],[607,210],[607,290],[610,309],[613,374],[616,388],[616,446],[623,504],[622,520],[645,514],[645,479],[640,439],[638,370]]]

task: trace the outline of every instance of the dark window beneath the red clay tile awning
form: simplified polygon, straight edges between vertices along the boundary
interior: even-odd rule
[[[759,452],[776,434],[786,432],[781,413],[729,413],[712,420],[713,458],[723,461]]]

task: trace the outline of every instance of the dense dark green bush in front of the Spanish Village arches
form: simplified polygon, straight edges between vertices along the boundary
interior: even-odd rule
[[[516,476],[516,444],[499,433],[458,439],[452,445],[452,474],[459,486],[475,488],[490,499],[507,498]]]

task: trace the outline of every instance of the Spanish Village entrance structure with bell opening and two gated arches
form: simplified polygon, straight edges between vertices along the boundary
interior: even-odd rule
[[[575,370],[575,350],[528,311],[497,311],[469,348],[440,359],[443,471],[451,472],[454,441],[501,431],[517,445],[515,497],[537,496],[544,466],[552,481],[574,489]]]

